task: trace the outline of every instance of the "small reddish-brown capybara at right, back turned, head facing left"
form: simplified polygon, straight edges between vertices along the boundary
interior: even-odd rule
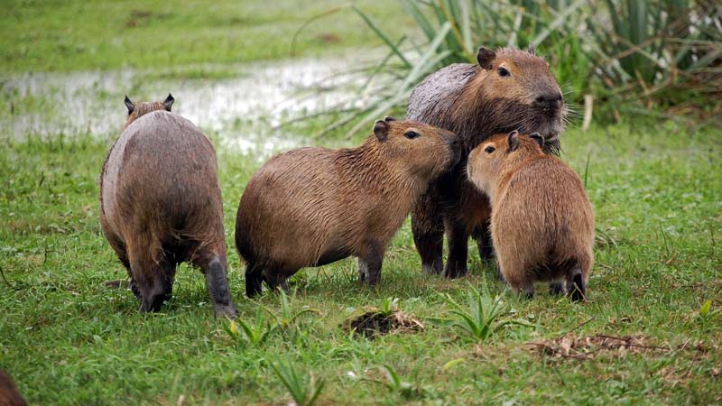
[[[594,213],[577,173],[544,153],[541,134],[498,134],[468,157],[468,179],[491,199],[499,270],[514,291],[550,291],[586,300],[594,263]]]

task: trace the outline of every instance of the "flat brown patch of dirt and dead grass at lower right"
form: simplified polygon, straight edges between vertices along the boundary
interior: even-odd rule
[[[597,334],[588,337],[561,337],[553,340],[529,343],[529,346],[552,358],[591,359],[601,354],[638,354],[646,352],[671,352],[670,346],[650,344],[646,337],[607,336]]]

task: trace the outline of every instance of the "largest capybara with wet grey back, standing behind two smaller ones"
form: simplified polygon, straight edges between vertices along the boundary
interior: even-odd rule
[[[457,63],[425,78],[409,98],[406,118],[436,125],[463,143],[457,166],[431,182],[412,210],[412,232],[423,272],[455,278],[467,272],[467,244],[477,240],[482,259],[493,254],[489,201],[466,179],[467,154],[487,137],[537,131],[545,152],[557,152],[566,107],[547,62],[533,51],[481,48],[478,65]],[[444,231],[449,257],[443,266]]]

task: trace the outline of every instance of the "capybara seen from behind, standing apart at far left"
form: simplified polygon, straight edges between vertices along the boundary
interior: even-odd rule
[[[206,275],[216,317],[233,317],[216,152],[172,103],[125,97],[128,118],[100,175],[100,225],[140,311],[158,311],[176,265],[189,262]]]

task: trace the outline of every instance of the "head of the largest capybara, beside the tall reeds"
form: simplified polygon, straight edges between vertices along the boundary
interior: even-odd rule
[[[481,48],[477,61],[486,72],[475,79],[476,97],[486,105],[480,113],[494,115],[479,119],[495,123],[495,132],[536,131],[547,141],[556,139],[563,129],[567,109],[545,60],[534,55],[532,48],[529,51]]]

